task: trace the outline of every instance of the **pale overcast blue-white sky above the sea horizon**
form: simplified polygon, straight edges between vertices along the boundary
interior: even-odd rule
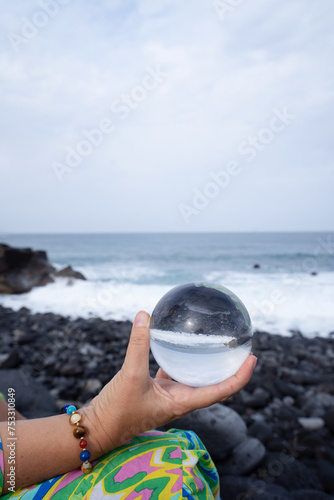
[[[0,233],[334,230],[332,0],[16,0]]]

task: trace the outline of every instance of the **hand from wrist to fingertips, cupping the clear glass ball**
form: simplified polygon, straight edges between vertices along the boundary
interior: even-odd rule
[[[149,374],[150,316],[137,314],[122,369],[82,411],[94,426],[101,453],[197,408],[225,401],[250,380],[256,357],[250,355],[235,375],[207,387],[174,382],[163,370]]]

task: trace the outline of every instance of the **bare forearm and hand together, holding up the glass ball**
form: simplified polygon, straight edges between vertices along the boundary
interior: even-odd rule
[[[151,379],[149,348],[149,315],[140,312],[134,321],[122,369],[88,407],[80,409],[91,461],[150,428],[226,400],[249,382],[256,364],[256,358],[249,356],[229,379],[208,387],[188,387],[172,381],[161,371]],[[73,436],[68,415],[20,420],[15,425],[15,441],[7,432],[7,422],[1,423],[3,492],[9,486],[6,474],[10,470],[11,442],[15,444],[16,488],[51,479],[81,465],[79,443]]]

